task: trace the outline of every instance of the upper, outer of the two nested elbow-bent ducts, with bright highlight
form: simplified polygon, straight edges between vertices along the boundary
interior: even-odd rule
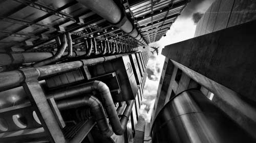
[[[81,94],[90,93],[92,91],[98,91],[100,94],[100,99],[102,99],[102,104],[106,110],[110,124],[115,134],[121,135],[124,133],[124,129],[121,127],[121,123],[117,116],[115,104],[113,102],[109,87],[101,81],[92,81],[84,84],[77,85],[75,87],[67,88],[65,90],[60,90],[49,94],[55,100],[69,98],[73,96],[78,96]]]

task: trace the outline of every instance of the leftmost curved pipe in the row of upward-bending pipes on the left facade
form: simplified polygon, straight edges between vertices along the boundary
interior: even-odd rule
[[[51,58],[48,58],[48,59],[45,59],[41,62],[32,64],[32,67],[40,67],[40,66],[51,64],[53,62],[57,62],[58,60],[60,60],[61,56],[63,55],[63,53],[66,49],[66,47],[67,47],[66,35],[62,34],[61,35],[61,45],[60,45],[60,48],[58,48],[57,52]]]

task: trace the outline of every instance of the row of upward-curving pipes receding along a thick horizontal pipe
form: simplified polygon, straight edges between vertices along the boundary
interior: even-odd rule
[[[95,38],[89,38],[84,41],[84,47],[86,51],[74,51],[72,46],[71,34],[68,32],[55,38],[57,44],[56,52],[13,52],[13,53],[0,53],[3,59],[0,61],[1,66],[18,65],[34,63],[32,67],[40,67],[57,62],[61,62],[67,59],[78,58],[88,59],[93,56],[100,55],[113,55],[121,53],[129,53],[138,51],[137,45],[131,45],[126,43],[109,42],[108,40],[100,41],[96,43]],[[66,48],[68,47],[68,52]]]

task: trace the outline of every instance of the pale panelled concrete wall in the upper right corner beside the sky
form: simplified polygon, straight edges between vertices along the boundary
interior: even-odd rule
[[[256,19],[256,1],[216,0],[197,24],[195,37]]]

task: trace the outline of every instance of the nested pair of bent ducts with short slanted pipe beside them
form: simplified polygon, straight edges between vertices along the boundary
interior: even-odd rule
[[[99,97],[91,95],[90,93],[93,91],[97,91]],[[79,84],[65,90],[61,89],[50,93],[48,97],[53,97],[56,100],[59,110],[67,111],[70,108],[89,106],[89,111],[95,118],[99,130],[106,137],[113,135],[113,132],[116,135],[122,135],[124,133],[135,102],[134,100],[122,102],[116,110],[108,85],[97,80]],[[70,97],[74,98],[63,100]],[[86,116],[83,114],[91,115],[90,113],[79,112],[77,118]],[[120,119],[119,116],[121,117]],[[106,117],[108,117],[112,128],[110,128]]]

